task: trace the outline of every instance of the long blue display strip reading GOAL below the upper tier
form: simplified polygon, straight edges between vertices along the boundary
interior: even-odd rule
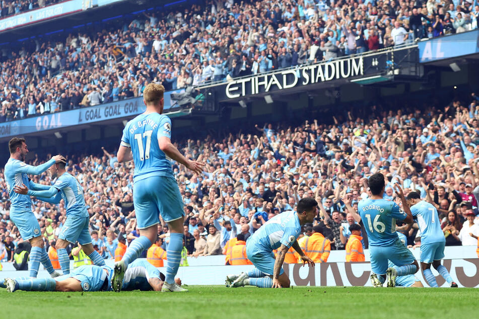
[[[184,90],[165,93],[165,113],[172,108],[170,95],[179,92],[184,92]],[[134,116],[145,112],[145,109],[143,97],[138,97],[87,108],[45,114],[0,124],[0,138]]]

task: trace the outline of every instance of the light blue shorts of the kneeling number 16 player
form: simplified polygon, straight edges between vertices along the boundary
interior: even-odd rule
[[[391,246],[369,245],[371,271],[378,275],[385,275],[388,268],[388,259],[396,266],[405,266],[414,263],[413,254],[402,244],[399,238]]]

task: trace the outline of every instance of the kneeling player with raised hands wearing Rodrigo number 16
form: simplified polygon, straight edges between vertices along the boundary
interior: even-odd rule
[[[376,173],[369,178],[368,183],[372,196],[360,201],[358,210],[369,238],[373,273],[371,283],[375,287],[381,287],[387,275],[387,286],[394,287],[396,276],[415,274],[419,269],[413,254],[401,243],[396,233],[396,219],[410,224],[413,215],[398,184],[394,189],[401,199],[404,211],[396,203],[383,199],[384,175]],[[397,269],[388,268],[388,259],[398,266]]]

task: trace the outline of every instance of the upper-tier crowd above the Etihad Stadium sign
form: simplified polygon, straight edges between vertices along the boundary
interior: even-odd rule
[[[462,32],[478,14],[468,1],[434,0],[218,0],[147,11],[118,29],[4,49],[0,122],[141,96],[152,82],[182,89]]]

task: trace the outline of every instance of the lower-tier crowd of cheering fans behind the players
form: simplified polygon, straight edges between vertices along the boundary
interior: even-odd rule
[[[369,196],[368,177],[381,172],[387,179],[384,197],[397,201],[392,186],[416,190],[437,207],[446,245],[475,246],[479,236],[479,98],[453,101],[444,108],[411,108],[393,112],[372,106],[368,113],[351,111],[333,117],[334,125],[314,120],[300,126],[265,124],[251,133],[224,138],[179,142],[187,157],[207,163],[201,176],[173,163],[184,200],[185,247],[190,256],[221,254],[228,233],[248,237],[271,216],[294,210],[299,199],[314,197],[320,211],[314,221],[324,224],[332,250],[345,248],[349,225],[359,222],[357,204]],[[365,114],[365,115],[363,115]],[[132,202],[132,163],[119,165],[115,154],[67,154],[67,171],[85,190],[93,244],[104,258],[113,258],[116,236],[136,229]],[[39,164],[35,158],[32,165]],[[50,184],[47,173],[34,176]],[[8,190],[0,174],[0,255],[21,242],[9,220]],[[65,222],[65,207],[34,200],[47,245]],[[313,225],[310,225],[313,226]],[[306,233],[310,231],[306,227]],[[168,227],[159,225],[159,246],[168,244]],[[409,245],[420,245],[417,227]],[[364,243],[367,247],[367,242]],[[4,258],[11,258],[7,254]]]

